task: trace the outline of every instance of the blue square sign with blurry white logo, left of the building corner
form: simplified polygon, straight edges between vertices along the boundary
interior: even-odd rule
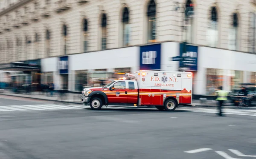
[[[140,46],[140,70],[161,69],[161,44]]]

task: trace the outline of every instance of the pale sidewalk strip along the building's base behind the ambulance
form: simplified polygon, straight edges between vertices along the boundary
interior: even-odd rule
[[[9,91],[4,91],[3,93],[0,93],[0,95],[61,102],[61,99],[60,99],[58,93],[55,93],[55,94],[53,94],[52,97],[50,97],[50,96],[47,96],[46,94],[42,94],[41,92],[32,92],[31,94],[17,94],[17,93],[13,93],[13,92],[9,92]],[[81,94],[66,93],[65,98],[66,98],[64,100],[65,102],[81,104]],[[212,107],[212,106],[217,106],[218,101],[215,101],[215,100],[204,100],[204,101],[192,100],[192,105]],[[233,106],[233,104],[230,102],[225,102],[224,106],[225,105]]]

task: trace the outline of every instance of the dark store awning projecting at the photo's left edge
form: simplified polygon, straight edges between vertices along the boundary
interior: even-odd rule
[[[0,70],[4,71],[41,71],[40,65],[29,65],[26,63],[8,63],[8,64],[1,64]]]

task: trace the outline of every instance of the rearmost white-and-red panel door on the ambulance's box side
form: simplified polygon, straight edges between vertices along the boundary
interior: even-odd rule
[[[184,104],[191,103],[192,97],[192,79],[191,78],[182,78],[181,79],[181,95],[180,102]]]

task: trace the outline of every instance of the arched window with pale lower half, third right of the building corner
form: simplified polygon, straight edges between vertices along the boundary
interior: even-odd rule
[[[238,50],[238,15],[237,13],[233,13],[232,15],[232,23],[229,34],[229,49],[230,50]]]

